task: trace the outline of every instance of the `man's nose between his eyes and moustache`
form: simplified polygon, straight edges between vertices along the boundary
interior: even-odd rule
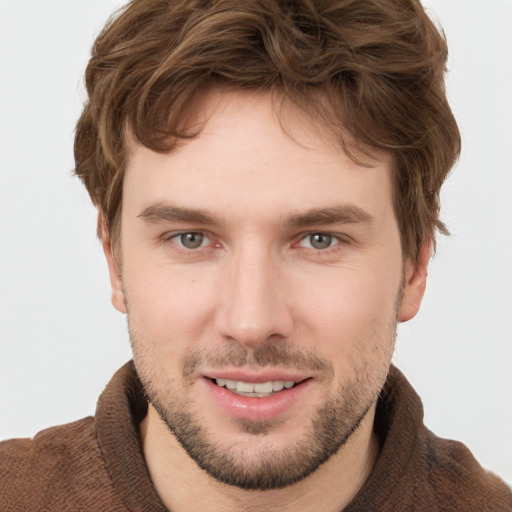
[[[255,348],[271,337],[291,335],[292,298],[268,250],[248,248],[230,255],[219,289],[216,327],[223,338]]]

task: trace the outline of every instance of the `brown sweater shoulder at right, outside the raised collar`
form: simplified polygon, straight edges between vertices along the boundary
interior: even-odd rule
[[[425,430],[425,477],[441,510],[512,511],[512,490],[505,482],[485,470],[464,444]]]

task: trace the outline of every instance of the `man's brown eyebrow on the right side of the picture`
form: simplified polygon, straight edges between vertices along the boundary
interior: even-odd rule
[[[371,224],[374,217],[355,205],[341,205],[332,208],[313,208],[304,213],[288,217],[285,224],[290,226],[325,226],[327,224]]]

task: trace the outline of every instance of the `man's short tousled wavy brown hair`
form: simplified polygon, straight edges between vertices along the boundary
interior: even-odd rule
[[[190,136],[180,118],[200,89],[279,91],[391,155],[402,248],[416,259],[446,232],[439,192],[460,152],[446,58],[417,0],[132,0],[92,50],[76,174],[115,243],[127,133],[170,151]]]

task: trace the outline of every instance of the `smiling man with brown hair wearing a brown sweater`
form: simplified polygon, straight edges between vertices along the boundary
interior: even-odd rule
[[[3,444],[6,510],[511,509],[390,368],[459,151],[445,59],[412,1],[109,24],[75,155],[134,364],[94,420]]]

